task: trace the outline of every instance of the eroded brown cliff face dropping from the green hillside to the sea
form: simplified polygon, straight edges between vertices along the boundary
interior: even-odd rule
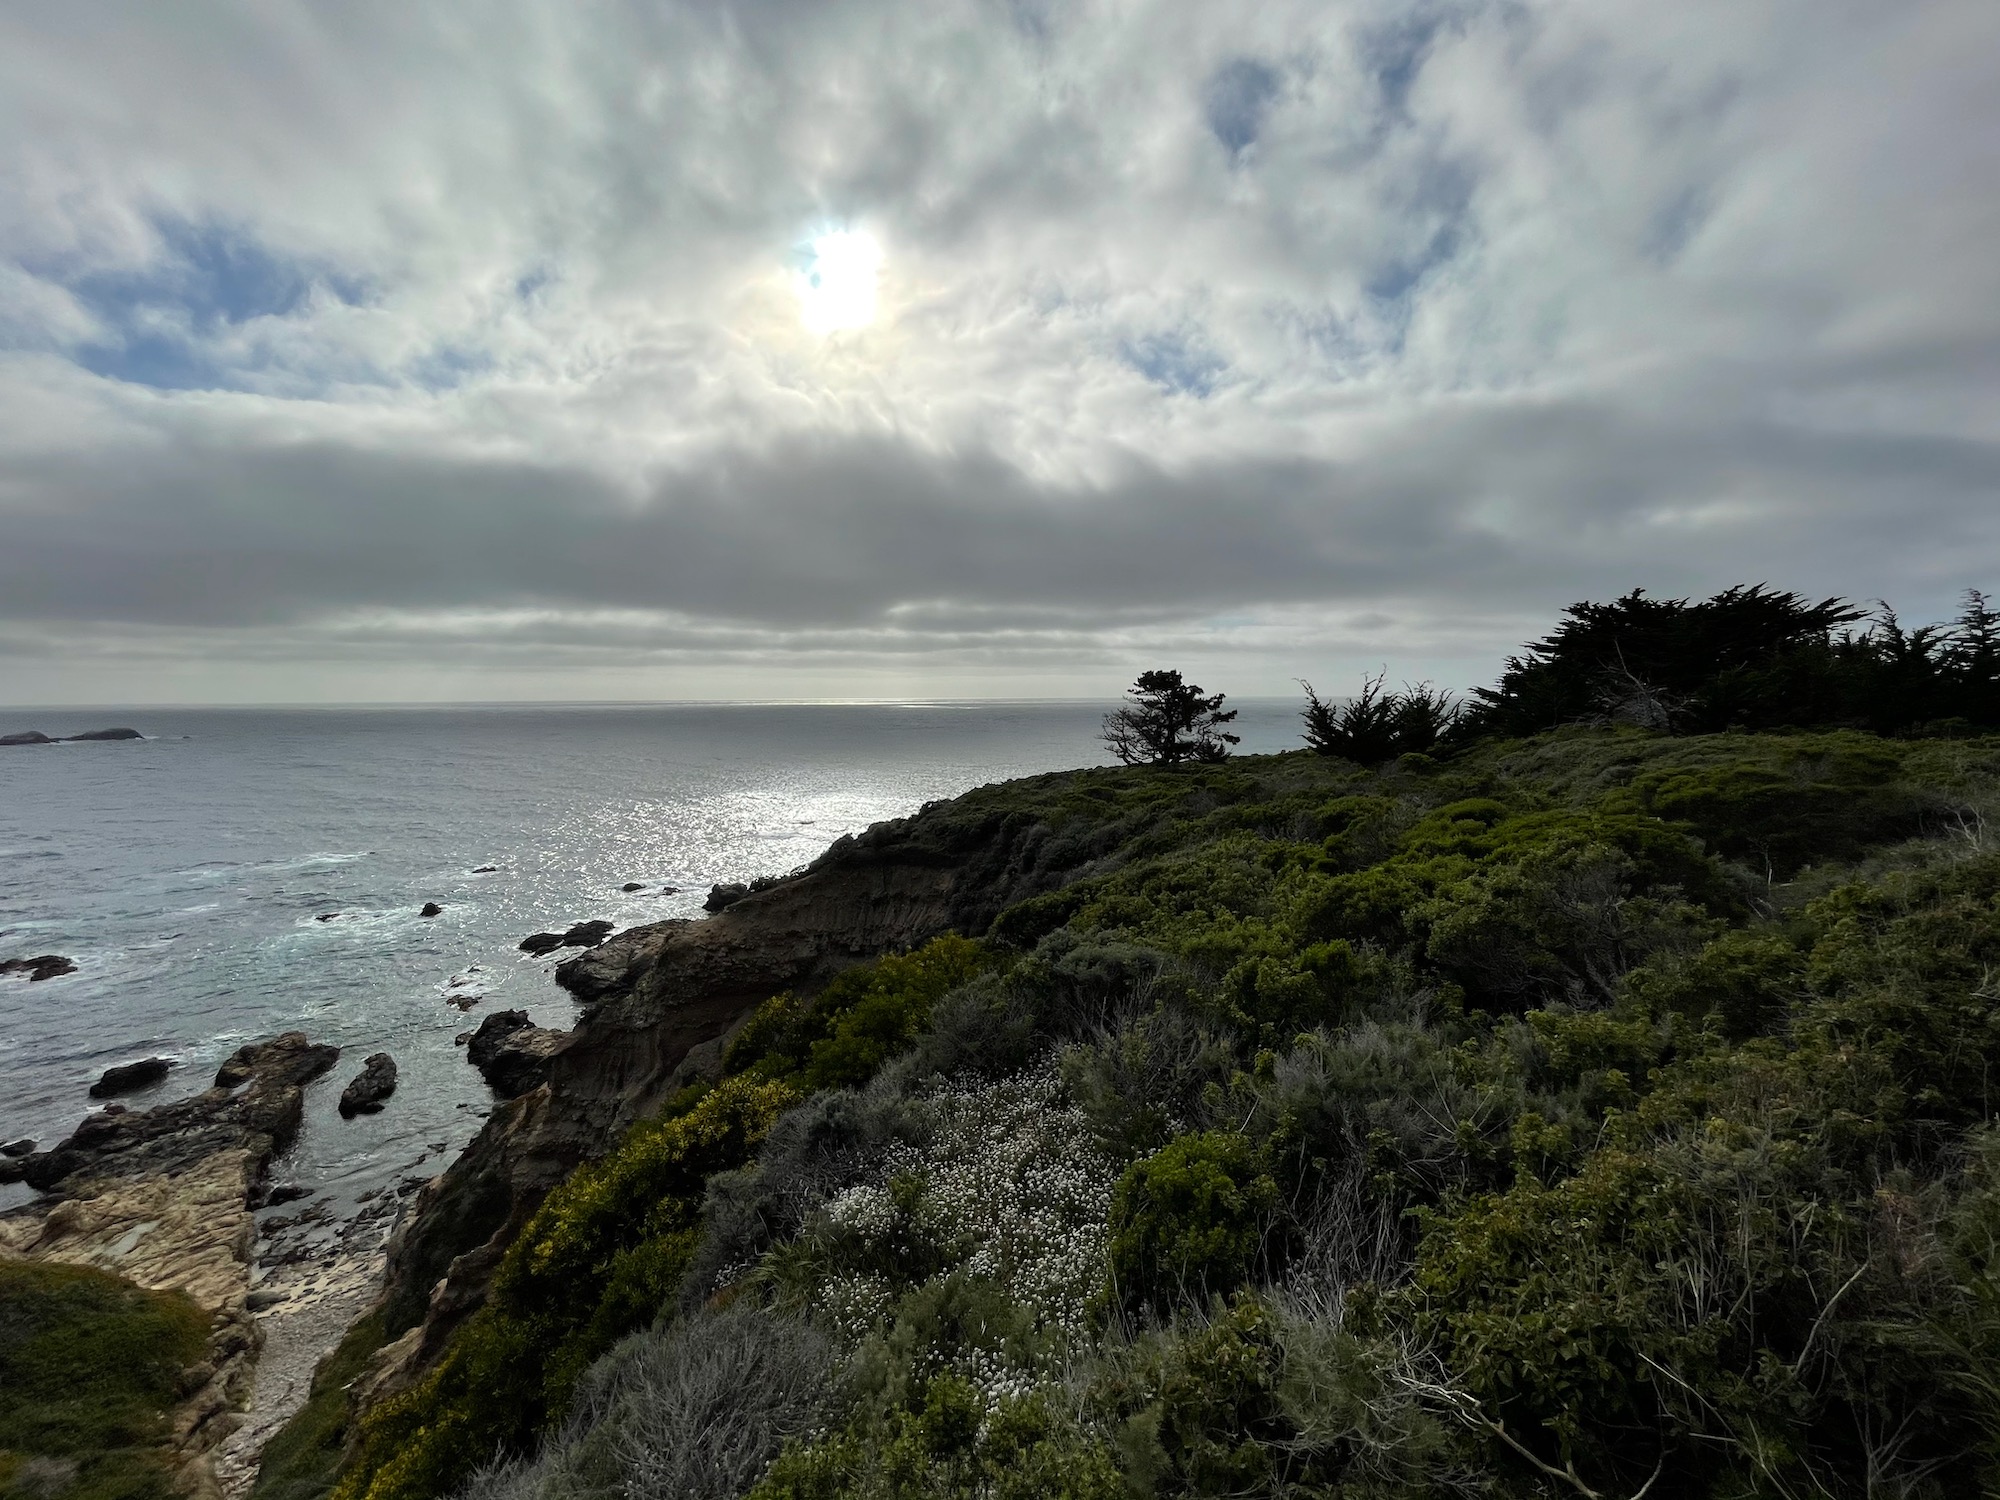
[[[558,966],[584,1012],[552,1048],[548,1082],[492,1112],[390,1246],[384,1308],[390,1330],[408,1332],[370,1392],[426,1370],[550,1188],[712,1070],[766,998],[944,932],[982,934],[1000,910],[1088,872],[1116,844],[1054,836],[1020,802],[982,788],[934,804],[840,840],[804,874],[712,918],[632,928]]]

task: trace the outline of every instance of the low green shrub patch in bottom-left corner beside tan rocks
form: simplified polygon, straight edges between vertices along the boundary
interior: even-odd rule
[[[166,1418],[206,1340],[184,1296],[0,1260],[0,1492],[166,1500]]]

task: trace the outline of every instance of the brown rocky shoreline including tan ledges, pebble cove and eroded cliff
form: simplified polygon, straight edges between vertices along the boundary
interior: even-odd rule
[[[462,1036],[498,1104],[440,1176],[414,1170],[424,1150],[346,1218],[330,1198],[272,1184],[304,1088],[340,1056],[290,1032],[242,1048],[192,1098],[106,1104],[50,1150],[0,1158],[0,1174],[44,1194],[0,1214],[0,1256],[100,1266],[184,1290],[210,1312],[200,1390],[174,1420],[178,1482],[186,1494],[240,1500],[264,1444],[304,1406],[314,1368],[358,1318],[380,1314],[390,1336],[356,1388],[366,1404],[430,1368],[548,1190],[674,1090],[716,1072],[754,1006],[946,930],[984,930],[1094,856],[1052,846],[1040,822],[968,820],[956,806],[878,824],[792,876],[726,890],[706,918],[618,934],[578,922],[522,944],[582,950],[556,966],[578,1020],[554,1030],[494,1012]],[[350,1108],[376,1106],[392,1088],[394,1064],[370,1058]]]

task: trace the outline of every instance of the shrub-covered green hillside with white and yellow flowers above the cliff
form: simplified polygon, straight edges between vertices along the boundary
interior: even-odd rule
[[[776,996],[346,1500],[1970,1494],[2000,742],[1018,786],[1086,878]]]

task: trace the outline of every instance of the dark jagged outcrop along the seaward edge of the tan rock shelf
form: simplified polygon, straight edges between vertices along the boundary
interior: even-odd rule
[[[68,1140],[20,1158],[22,1180],[48,1192],[76,1178],[158,1178],[186,1172],[222,1150],[250,1156],[252,1176],[298,1136],[306,1116],[306,1084],[334,1066],[338,1046],[304,1032],[240,1046],[216,1074],[216,1086],[194,1098],[152,1110],[106,1104],[86,1116]],[[238,1086],[248,1084],[248,1088]]]

